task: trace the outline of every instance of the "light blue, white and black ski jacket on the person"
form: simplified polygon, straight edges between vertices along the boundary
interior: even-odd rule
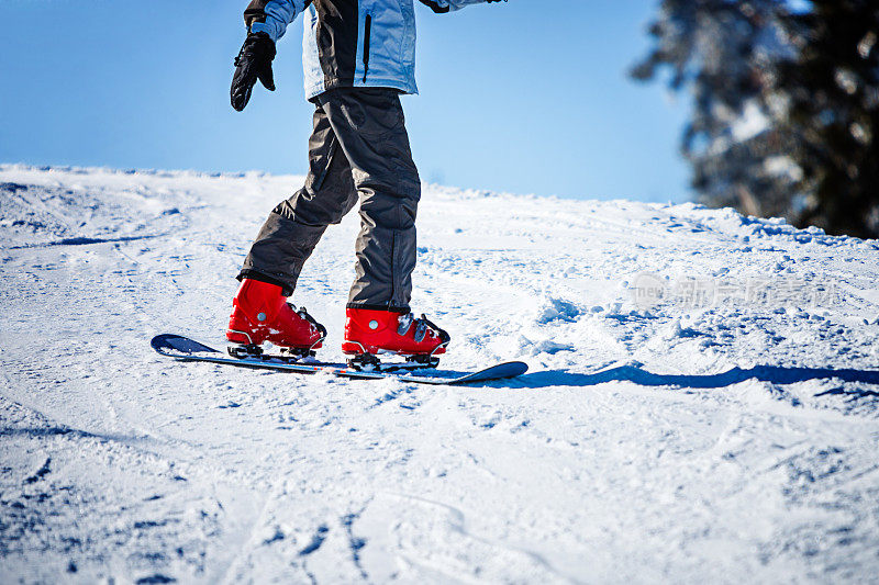
[[[434,12],[491,0],[419,0]],[[251,32],[278,41],[304,13],[305,97],[337,87],[396,88],[418,93],[413,0],[253,0]]]

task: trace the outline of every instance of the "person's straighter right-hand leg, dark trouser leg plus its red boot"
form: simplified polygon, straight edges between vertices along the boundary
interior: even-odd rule
[[[381,350],[436,364],[448,335],[409,312],[415,268],[415,214],[421,198],[397,91],[332,90],[319,98],[352,167],[360,195],[356,279],[345,311],[342,350],[375,363]],[[372,356],[364,356],[364,353]]]

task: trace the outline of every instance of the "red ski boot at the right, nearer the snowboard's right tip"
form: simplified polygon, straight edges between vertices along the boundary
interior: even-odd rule
[[[377,367],[377,353],[397,353],[412,364],[435,367],[439,362],[435,356],[445,353],[450,340],[424,315],[416,319],[412,313],[348,308],[345,316],[342,351],[355,356],[349,360],[355,367]]]

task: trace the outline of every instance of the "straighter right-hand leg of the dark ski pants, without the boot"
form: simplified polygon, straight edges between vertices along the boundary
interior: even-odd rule
[[[404,313],[415,268],[421,180],[396,90],[331,90],[319,98],[360,196],[356,279],[348,305]]]

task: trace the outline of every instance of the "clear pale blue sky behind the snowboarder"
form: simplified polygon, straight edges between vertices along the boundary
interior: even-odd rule
[[[278,91],[236,113],[246,0],[2,0],[0,161],[304,173],[313,106],[302,25]],[[626,78],[657,0],[416,5],[421,95],[403,98],[422,178],[578,199],[683,201],[686,100]]]

